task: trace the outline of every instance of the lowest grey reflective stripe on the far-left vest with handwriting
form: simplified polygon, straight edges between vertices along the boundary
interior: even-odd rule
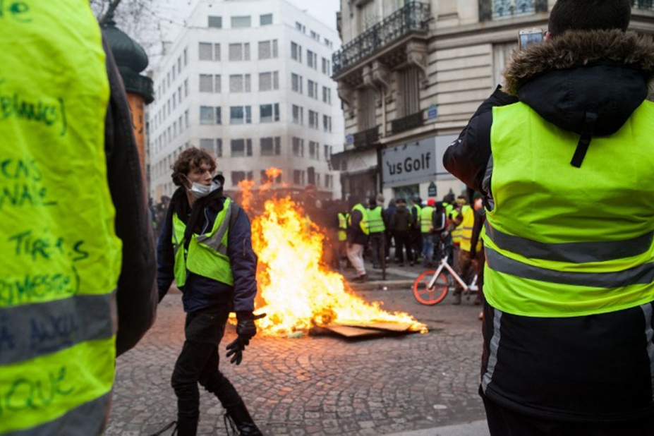
[[[63,416],[32,427],[29,430],[3,433],[4,436],[95,436],[102,434],[107,411],[111,404],[111,392],[81,406]]]

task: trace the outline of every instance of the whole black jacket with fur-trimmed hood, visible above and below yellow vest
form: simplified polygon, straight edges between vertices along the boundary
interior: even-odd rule
[[[507,92],[498,87],[444,155],[445,168],[482,191],[487,207],[492,107],[528,104],[559,128],[589,135],[590,155],[593,136],[617,132],[646,99],[654,42],[619,30],[567,32],[516,52],[504,75]],[[588,114],[595,119],[590,132]],[[654,329],[647,315],[653,312],[648,303],[588,316],[527,317],[486,304],[481,392],[492,403],[548,421],[651,420],[654,351],[646,332]]]

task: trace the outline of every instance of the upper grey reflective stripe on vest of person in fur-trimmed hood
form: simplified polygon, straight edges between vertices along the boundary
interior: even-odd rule
[[[525,258],[554,260],[556,262],[585,263],[631,258],[646,253],[652,246],[654,231],[626,241],[543,243],[505,234],[484,224],[486,234],[502,250]]]

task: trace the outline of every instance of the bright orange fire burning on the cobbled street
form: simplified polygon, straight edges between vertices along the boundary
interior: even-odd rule
[[[268,169],[268,180],[281,174]],[[253,207],[253,182],[239,183],[243,190],[241,205]],[[259,193],[270,190],[270,184]],[[267,313],[258,320],[264,334],[289,334],[307,331],[314,326],[390,322],[410,325],[411,331],[426,327],[407,313],[388,313],[383,303],[367,303],[355,296],[345,278],[322,265],[324,230],[310,222],[302,207],[291,198],[266,200],[263,212],[252,222],[253,248],[259,257],[257,280],[260,297],[257,313]]]

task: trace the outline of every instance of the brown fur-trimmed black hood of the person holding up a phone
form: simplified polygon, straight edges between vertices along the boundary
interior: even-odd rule
[[[595,131],[619,130],[654,81],[654,42],[633,32],[566,32],[516,51],[504,70],[505,91],[544,119],[581,133],[586,114]]]

